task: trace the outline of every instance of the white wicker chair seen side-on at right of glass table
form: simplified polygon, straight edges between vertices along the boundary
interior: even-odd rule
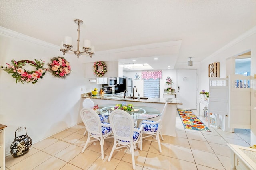
[[[166,112],[166,107],[167,107],[167,103],[165,103],[164,109],[160,114],[160,119],[158,119],[158,121],[143,120],[140,122],[140,125],[143,126],[142,128],[143,138],[153,137],[154,139],[156,139],[158,142],[158,148],[160,153],[162,153],[162,148],[160,144],[159,135],[161,136],[161,139],[163,141],[164,139],[161,133],[161,129],[162,129],[162,119],[163,119],[164,113]]]

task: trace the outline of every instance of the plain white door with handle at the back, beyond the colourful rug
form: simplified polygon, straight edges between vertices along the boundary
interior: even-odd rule
[[[196,110],[197,70],[177,70],[177,98],[183,103],[180,109]]]

